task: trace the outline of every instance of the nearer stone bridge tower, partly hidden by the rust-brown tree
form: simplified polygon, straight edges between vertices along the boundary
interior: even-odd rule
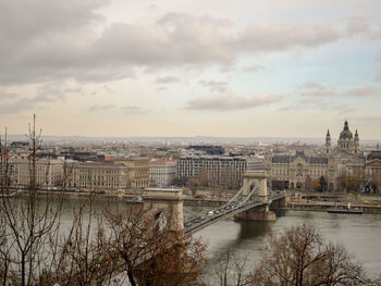
[[[143,196],[143,204],[148,215],[158,221],[159,227],[183,231],[183,190],[148,188]]]

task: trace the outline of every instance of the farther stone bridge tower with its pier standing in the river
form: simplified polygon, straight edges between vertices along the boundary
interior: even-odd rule
[[[275,221],[275,213],[269,210],[271,201],[268,199],[268,189],[267,189],[267,173],[265,171],[247,171],[244,174],[244,190],[243,196],[248,196],[251,191],[251,188],[258,186],[258,197],[263,206],[260,208],[253,208],[247,211],[241,212],[235,215],[237,220],[245,221]]]

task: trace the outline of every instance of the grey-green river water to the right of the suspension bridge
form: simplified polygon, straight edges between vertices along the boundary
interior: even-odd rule
[[[188,207],[205,212],[206,207]],[[246,256],[248,271],[261,256],[270,232],[310,223],[330,241],[345,246],[369,276],[381,274],[381,214],[330,214],[317,211],[276,211],[275,222],[243,222],[228,219],[201,229],[196,235],[208,245],[210,265],[204,276],[212,274],[212,266],[226,257],[226,252]]]

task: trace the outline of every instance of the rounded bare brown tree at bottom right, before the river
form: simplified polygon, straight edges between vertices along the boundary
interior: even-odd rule
[[[250,276],[253,286],[370,285],[343,246],[324,241],[306,224],[272,234]]]

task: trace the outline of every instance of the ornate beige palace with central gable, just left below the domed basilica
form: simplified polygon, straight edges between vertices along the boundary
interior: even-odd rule
[[[328,189],[335,187],[336,164],[332,157],[311,157],[304,151],[295,154],[270,156],[265,160],[272,189],[310,189],[314,179],[321,176],[328,183]]]

